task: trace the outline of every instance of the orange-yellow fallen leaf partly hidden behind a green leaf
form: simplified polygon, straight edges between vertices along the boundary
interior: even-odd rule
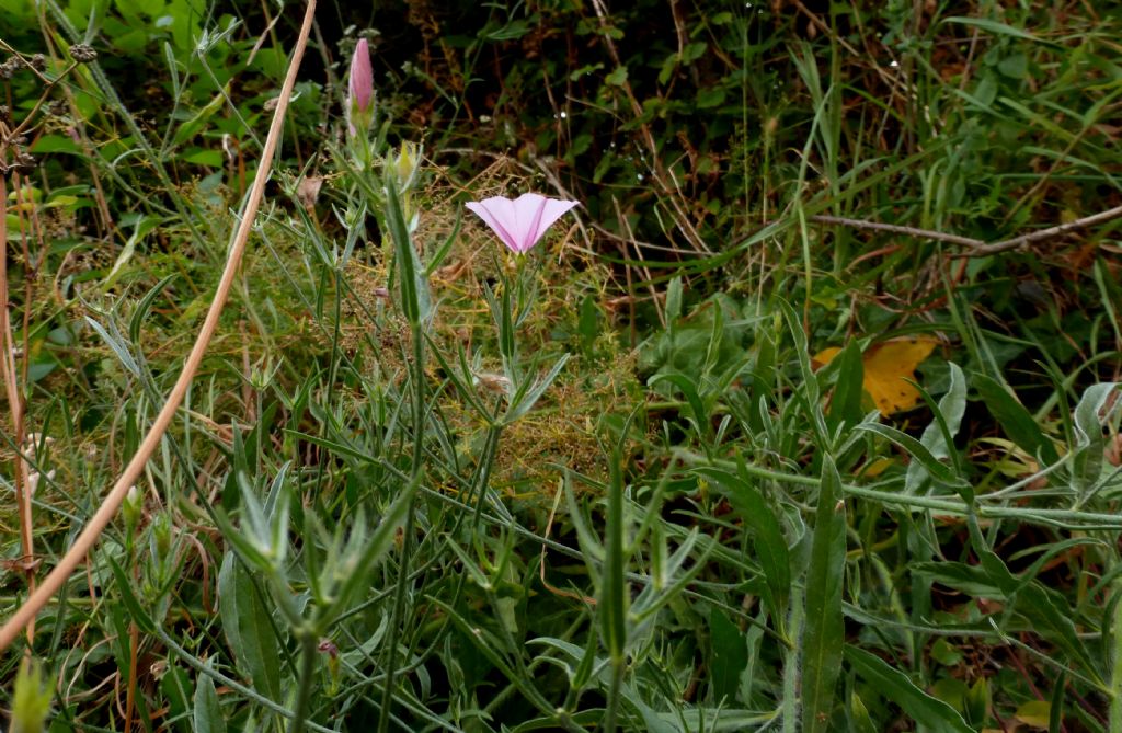
[[[929,337],[909,337],[881,341],[868,347],[861,356],[865,368],[862,384],[882,415],[911,410],[919,404],[919,391],[905,379],[916,378],[916,367],[931,356],[938,341]],[[829,364],[842,352],[836,346],[822,349],[812,359]]]

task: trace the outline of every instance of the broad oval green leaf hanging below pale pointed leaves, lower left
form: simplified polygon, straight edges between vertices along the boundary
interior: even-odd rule
[[[218,590],[222,631],[238,665],[257,691],[274,702],[283,700],[277,656],[280,642],[273,632],[269,608],[232,551],[227,551],[222,558]]]

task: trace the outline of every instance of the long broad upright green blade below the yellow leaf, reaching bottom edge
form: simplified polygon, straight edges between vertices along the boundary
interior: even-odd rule
[[[834,689],[842,671],[845,625],[842,581],[845,577],[845,503],[834,460],[822,461],[810,567],[807,569],[807,630],[802,638],[802,730],[828,731]]]

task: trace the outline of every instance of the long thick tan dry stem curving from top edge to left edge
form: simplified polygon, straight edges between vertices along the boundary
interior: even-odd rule
[[[300,70],[300,62],[304,56],[304,48],[307,46],[307,37],[312,29],[312,18],[314,15],[315,0],[307,0],[307,7],[304,10],[304,21],[300,29],[300,38],[296,42],[296,47],[293,49],[288,73],[285,75],[284,86],[280,90],[280,95],[277,98],[273,122],[269,126],[269,135],[265,140],[265,149],[261,152],[260,167],[257,169],[254,185],[249,191],[249,198],[241,211],[238,229],[234,233],[233,244],[230,247],[226,269],[222,271],[222,278],[219,281],[218,290],[214,293],[214,300],[206,312],[206,320],[203,321],[199,338],[195,339],[195,345],[192,347],[186,363],[183,365],[183,372],[180,373],[175,386],[167,396],[167,402],[164,403],[164,407],[156,415],[151,429],[145,436],[136,455],[132,456],[128,466],[125,467],[120,478],[117,479],[117,483],[105,496],[98,512],[90,519],[90,523],[82,530],[73,547],[58,561],[55,569],[43,579],[43,585],[0,627],[0,651],[7,649],[16,636],[19,635],[20,630],[33,622],[39,610],[62,588],[63,584],[66,583],[67,578],[70,578],[71,574],[74,572],[74,569],[82,561],[82,558],[85,557],[85,553],[98,541],[102,530],[105,529],[117,514],[117,510],[120,507],[126,494],[128,494],[129,487],[139,478],[140,471],[144,469],[145,464],[148,462],[148,458],[151,457],[157,446],[159,446],[164,432],[167,430],[172,419],[175,416],[176,410],[178,410],[180,404],[183,402],[187,386],[194,378],[195,372],[202,363],[203,354],[205,354],[211,337],[218,328],[219,315],[222,313],[222,308],[230,295],[230,287],[233,285],[238,265],[241,263],[241,256],[246,250],[246,242],[249,240],[249,232],[252,230],[254,219],[257,216],[257,210],[265,193],[265,182],[273,167],[273,156],[276,153],[277,145],[284,131],[285,112],[288,110],[288,100],[292,98],[292,90],[296,84],[296,72]]]

